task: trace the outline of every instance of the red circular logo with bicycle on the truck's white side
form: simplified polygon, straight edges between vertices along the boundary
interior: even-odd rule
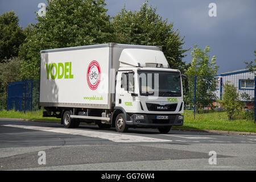
[[[87,84],[90,89],[96,90],[101,81],[101,67],[97,61],[90,62],[87,69]]]

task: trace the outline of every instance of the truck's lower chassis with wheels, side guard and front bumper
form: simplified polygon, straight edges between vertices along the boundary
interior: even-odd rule
[[[67,128],[77,128],[80,122],[95,123],[98,127],[115,127],[118,132],[126,132],[129,127],[158,128],[160,133],[168,133],[172,126],[183,125],[181,114],[126,113],[122,108],[113,110],[85,109],[74,107],[44,107],[43,117],[61,118]],[[161,117],[158,119],[158,117]]]

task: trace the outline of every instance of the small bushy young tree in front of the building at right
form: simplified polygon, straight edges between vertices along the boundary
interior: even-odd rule
[[[223,89],[224,94],[221,103],[230,120],[232,119],[234,111],[240,109],[241,107],[241,103],[239,101],[239,93],[237,92],[237,88],[234,86],[234,84],[229,84],[229,82],[223,86]]]

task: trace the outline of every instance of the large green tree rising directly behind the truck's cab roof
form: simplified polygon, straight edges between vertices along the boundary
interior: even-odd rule
[[[164,55],[171,68],[180,69],[184,73],[187,68],[182,61],[184,37],[180,38],[173,23],[156,14],[156,9],[148,6],[146,1],[139,11],[127,11],[125,8],[112,19],[114,42],[139,44],[146,46],[162,46]]]

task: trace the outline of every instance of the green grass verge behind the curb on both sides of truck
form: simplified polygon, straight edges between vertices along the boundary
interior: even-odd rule
[[[25,114],[24,112],[14,110],[3,110],[0,111],[0,118],[22,118],[60,122],[60,119],[57,118],[43,117],[43,110],[27,112]],[[246,119],[233,119],[229,121],[228,116],[224,111],[196,114],[196,119],[194,119],[193,111],[185,110],[184,125],[174,127],[185,129],[244,131],[256,133],[256,124],[254,124],[253,121],[246,121]]]

